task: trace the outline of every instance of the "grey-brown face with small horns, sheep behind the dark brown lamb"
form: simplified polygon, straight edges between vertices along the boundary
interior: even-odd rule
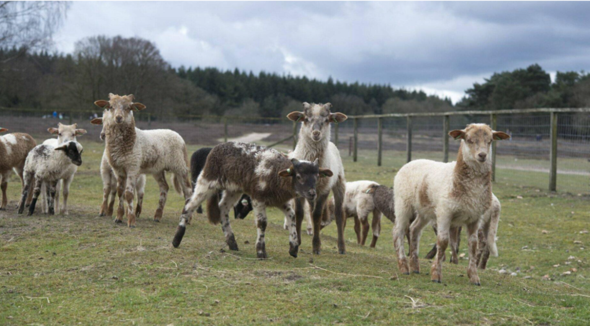
[[[312,141],[319,142],[326,135],[329,136],[330,123],[340,123],[347,118],[339,112],[330,113],[331,108],[330,103],[324,105],[303,103],[303,112],[291,112],[287,118],[295,122],[303,122],[301,133]]]

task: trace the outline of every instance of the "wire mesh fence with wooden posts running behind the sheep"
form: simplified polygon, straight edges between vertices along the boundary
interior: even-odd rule
[[[556,112],[555,165],[551,164],[550,112]],[[84,141],[100,141],[100,128],[90,124],[90,120],[97,116],[101,116],[100,109],[60,113],[1,108],[0,126],[12,132],[29,133],[42,141],[51,137],[47,128],[58,122],[77,123],[78,128],[88,131]],[[279,146],[284,151],[293,148],[293,138],[299,129],[299,125],[286,118],[156,117],[139,112],[135,114],[135,120],[140,129],[172,129],[191,145],[213,146],[224,141],[244,141]],[[463,129],[468,123],[495,123],[497,130],[512,136],[509,141],[496,142],[496,182],[546,190],[550,187],[551,170],[555,168],[556,190],[590,194],[590,109],[355,116],[332,127],[332,141],[343,157],[356,157],[359,164],[378,164],[381,152],[381,165],[398,169],[408,159],[445,161],[445,142],[448,144],[448,161],[454,161],[459,142],[450,139],[447,133]]]

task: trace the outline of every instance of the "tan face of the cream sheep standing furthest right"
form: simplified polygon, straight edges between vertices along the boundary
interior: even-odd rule
[[[463,141],[463,159],[481,163],[486,162],[490,157],[491,142],[510,138],[507,133],[493,131],[484,123],[471,123],[463,130],[454,130],[448,134],[454,139]]]

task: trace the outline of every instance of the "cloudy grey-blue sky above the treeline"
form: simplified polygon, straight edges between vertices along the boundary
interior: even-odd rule
[[[590,2],[73,2],[55,47],[142,37],[173,67],[391,84],[457,102],[533,63],[590,67]]]

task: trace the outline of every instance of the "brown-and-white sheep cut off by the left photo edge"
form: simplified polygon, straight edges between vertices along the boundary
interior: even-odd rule
[[[0,128],[0,133],[6,131],[8,129]],[[35,146],[37,146],[35,139],[27,135],[27,133],[15,132],[0,136],[0,189],[2,189],[0,210],[5,210],[8,205],[6,189],[8,188],[8,178],[12,169],[21,178],[21,185],[24,187],[25,181],[22,173],[25,167],[25,160],[31,149]],[[31,200],[32,195],[27,198],[26,204],[30,204]]]

